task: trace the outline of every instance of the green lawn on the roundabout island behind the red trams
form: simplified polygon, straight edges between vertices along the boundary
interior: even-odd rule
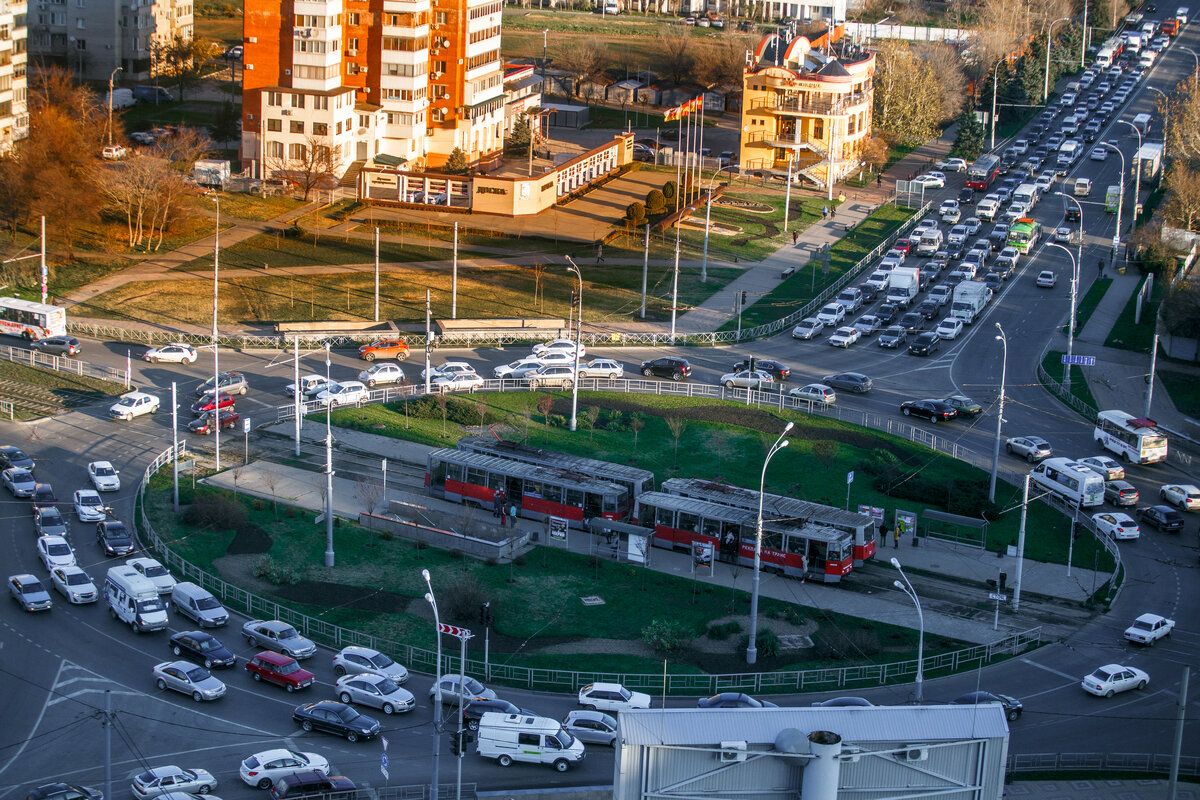
[[[551,421],[556,425],[552,426],[544,423],[541,413],[535,408],[544,396],[544,392],[511,392],[479,395],[470,399],[452,397],[445,423],[436,405],[425,404],[422,410],[422,405],[415,402],[408,404],[407,416],[406,405],[396,403],[341,409],[334,413],[334,420],[342,427],[452,447],[461,435],[467,434],[454,419],[478,426],[482,410],[485,423],[506,425],[506,438],[526,439],[534,446],[634,464],[654,471],[659,481],[674,476],[708,477],[738,486],[757,486],[766,450],[782,429],[784,421],[790,420],[796,422],[792,446],[772,462],[767,475],[770,492],[841,506],[846,501],[846,473],[858,470],[865,477],[865,463],[880,451],[893,453],[901,471],[919,475],[936,488],[920,499],[898,499],[884,494],[872,479],[866,477],[856,481],[851,503],[882,506],[888,512],[898,506],[913,511],[926,507],[944,510],[949,498],[968,489],[964,482],[970,485],[988,480],[982,470],[871,429],[800,413],[746,409],[722,401],[580,392],[583,427],[587,426],[588,407],[595,405],[601,410],[594,432],[572,434],[563,427],[559,416],[570,413],[570,396],[551,395],[556,403],[551,413]],[[644,422],[644,428],[636,437],[629,427],[635,413],[641,414]],[[678,461],[676,443],[666,422],[670,416],[686,420],[678,443]],[[833,447],[818,444],[824,440],[834,443]],[[704,457],[695,458],[695,453],[704,453]],[[812,469],[815,462],[821,464],[820,469]],[[1019,506],[1019,489],[1002,483],[997,488],[996,503],[1001,509]],[[988,548],[1002,551],[1007,545],[1015,543],[1018,525],[1016,513],[1001,516],[989,528]],[[1067,522],[1061,515],[1040,504],[1031,505],[1026,552],[1037,560],[1063,563],[1066,553],[1061,545],[1066,542],[1066,531]],[[1091,566],[1093,548],[1091,541],[1076,542],[1075,558],[1080,566]],[[1082,549],[1088,551],[1086,558],[1079,552]],[[1100,563],[1104,560],[1102,552]]]

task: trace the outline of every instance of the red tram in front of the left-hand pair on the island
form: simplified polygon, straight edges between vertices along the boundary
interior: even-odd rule
[[[553,467],[539,467],[464,450],[428,455],[425,488],[451,503],[491,509],[498,491],[517,507],[517,516],[545,522],[562,517],[571,528],[587,529],[593,517],[623,521],[629,492],[624,487]]]

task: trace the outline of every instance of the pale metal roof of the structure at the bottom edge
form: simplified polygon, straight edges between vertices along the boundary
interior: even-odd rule
[[[989,705],[876,705],[780,709],[646,709],[622,711],[626,745],[716,746],[745,741],[773,748],[786,728],[832,730],[844,744],[936,742],[1008,735],[1004,709]]]

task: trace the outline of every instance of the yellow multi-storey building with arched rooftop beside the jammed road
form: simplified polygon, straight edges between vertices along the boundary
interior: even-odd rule
[[[871,134],[875,54],[838,47],[841,28],[791,42],[769,34],[742,74],[744,170],[766,170],[829,188],[859,169]],[[829,46],[829,40],[834,46]]]

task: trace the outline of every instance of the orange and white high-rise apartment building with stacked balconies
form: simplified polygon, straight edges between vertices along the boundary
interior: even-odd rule
[[[500,0],[246,0],[241,162],[436,169],[504,144]]]

